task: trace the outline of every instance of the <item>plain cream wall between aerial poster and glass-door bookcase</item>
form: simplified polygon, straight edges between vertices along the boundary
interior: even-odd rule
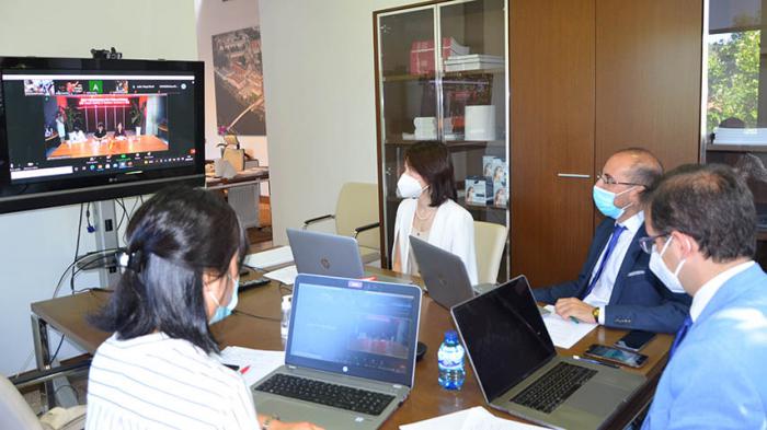
[[[241,0],[238,0],[241,1]],[[332,213],[346,182],[378,181],[373,11],[394,0],[260,0],[272,222]]]

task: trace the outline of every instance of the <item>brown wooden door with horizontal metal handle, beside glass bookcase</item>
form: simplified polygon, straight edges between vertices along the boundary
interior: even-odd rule
[[[510,1],[512,274],[534,287],[574,279],[594,231],[594,5]]]

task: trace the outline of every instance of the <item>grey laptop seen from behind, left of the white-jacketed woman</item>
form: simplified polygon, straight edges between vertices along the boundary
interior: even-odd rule
[[[287,229],[293,259],[299,274],[336,276],[341,278],[376,278],[386,282],[402,279],[366,272],[363,257],[354,237],[339,234]]]

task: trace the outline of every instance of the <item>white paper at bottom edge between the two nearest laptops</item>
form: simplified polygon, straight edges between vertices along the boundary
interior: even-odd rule
[[[463,409],[457,412],[443,415],[411,425],[400,426],[400,430],[535,430],[545,427],[531,426],[522,422],[499,418],[482,406]]]

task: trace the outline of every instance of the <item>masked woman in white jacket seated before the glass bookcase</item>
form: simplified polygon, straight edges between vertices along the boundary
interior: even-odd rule
[[[396,271],[417,275],[410,247],[414,235],[460,257],[471,284],[477,284],[474,223],[457,202],[453,161],[439,142],[416,142],[404,152],[404,173],[397,182],[403,197],[394,221],[393,265]]]

